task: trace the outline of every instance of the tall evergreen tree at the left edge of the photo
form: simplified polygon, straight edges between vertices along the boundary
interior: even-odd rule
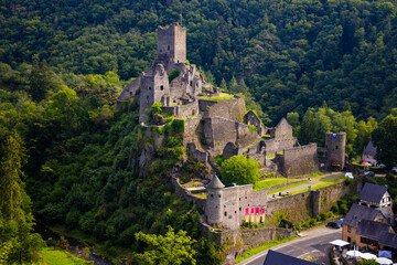
[[[22,166],[26,162],[22,139],[12,132],[2,145],[0,168],[0,263],[23,264],[37,259],[44,244],[33,234],[30,199],[22,182]]]

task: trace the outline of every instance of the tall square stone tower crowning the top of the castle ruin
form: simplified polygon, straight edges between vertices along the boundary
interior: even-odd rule
[[[158,59],[172,63],[186,62],[186,28],[178,22],[158,28]]]

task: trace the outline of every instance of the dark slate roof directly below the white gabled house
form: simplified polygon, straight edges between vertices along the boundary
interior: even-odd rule
[[[382,213],[379,208],[368,208],[354,203],[352,208],[348,210],[346,216],[344,218],[343,224],[346,224],[352,227],[357,227],[358,221],[361,220],[374,221],[379,213]]]

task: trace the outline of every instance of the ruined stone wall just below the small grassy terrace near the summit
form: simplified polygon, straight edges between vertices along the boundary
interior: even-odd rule
[[[243,97],[219,102],[200,99],[198,107],[204,113],[203,117],[205,118],[223,117],[237,123],[244,123],[246,106]]]

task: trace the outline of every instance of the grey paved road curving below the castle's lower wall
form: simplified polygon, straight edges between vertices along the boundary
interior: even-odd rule
[[[342,229],[320,227],[303,232],[302,235],[300,239],[273,246],[270,250],[301,258],[313,256],[316,263],[329,264],[325,247],[330,245],[329,242],[342,239]],[[238,263],[238,265],[262,265],[266,254],[267,251],[264,251]]]

